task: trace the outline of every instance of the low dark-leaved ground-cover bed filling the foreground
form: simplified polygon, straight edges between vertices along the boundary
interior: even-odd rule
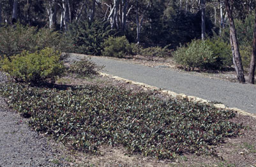
[[[30,117],[29,124],[73,149],[98,152],[100,145],[122,145],[130,153],[172,159],[177,154],[214,154],[225,137],[243,126],[236,114],[208,105],[162,100],[154,93],[114,87],[0,87],[10,107]]]

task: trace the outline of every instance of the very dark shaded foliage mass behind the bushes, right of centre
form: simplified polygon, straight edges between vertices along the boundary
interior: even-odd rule
[[[190,13],[177,10],[177,6],[159,6],[156,1],[151,10],[146,11],[147,22],[141,30],[140,42],[147,46],[165,47],[175,49],[179,44],[191,42],[192,39],[200,39],[201,36],[201,15],[200,13]],[[169,3],[173,5],[174,3]],[[160,8],[163,10],[160,10]],[[166,8],[167,7],[167,8]],[[176,10],[173,10],[175,9]],[[214,27],[209,16],[206,16],[206,34],[211,36]],[[136,29],[134,29],[135,31]]]

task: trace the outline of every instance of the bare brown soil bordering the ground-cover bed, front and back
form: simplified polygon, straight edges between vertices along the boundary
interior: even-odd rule
[[[98,84],[100,86],[117,86],[120,89],[134,92],[146,91],[140,86],[116,81],[110,77],[96,76],[91,78],[63,77],[61,84]],[[159,92],[155,95],[167,98]],[[223,144],[216,146],[218,156],[197,156],[195,154],[178,155],[173,161],[158,160],[153,157],[127,154],[123,147],[100,148],[101,155],[91,155],[75,152],[70,165],[73,166],[256,166],[256,119],[249,116],[238,115],[232,119],[236,123],[243,123],[248,127],[241,131],[239,137],[226,138]]]

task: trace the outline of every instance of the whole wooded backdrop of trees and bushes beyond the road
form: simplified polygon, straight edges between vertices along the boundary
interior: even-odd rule
[[[0,54],[52,45],[89,55],[174,57],[189,70],[234,67],[241,83],[246,72],[254,83],[254,18],[251,0],[1,0]]]

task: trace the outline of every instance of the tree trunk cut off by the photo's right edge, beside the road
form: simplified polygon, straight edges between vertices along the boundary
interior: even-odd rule
[[[256,0],[255,0],[255,3],[256,3]],[[255,12],[256,12],[256,6],[255,6]],[[256,63],[256,15],[254,20],[253,50],[252,50],[252,58],[250,62],[249,81],[248,81],[251,84],[254,84],[255,63]]]

